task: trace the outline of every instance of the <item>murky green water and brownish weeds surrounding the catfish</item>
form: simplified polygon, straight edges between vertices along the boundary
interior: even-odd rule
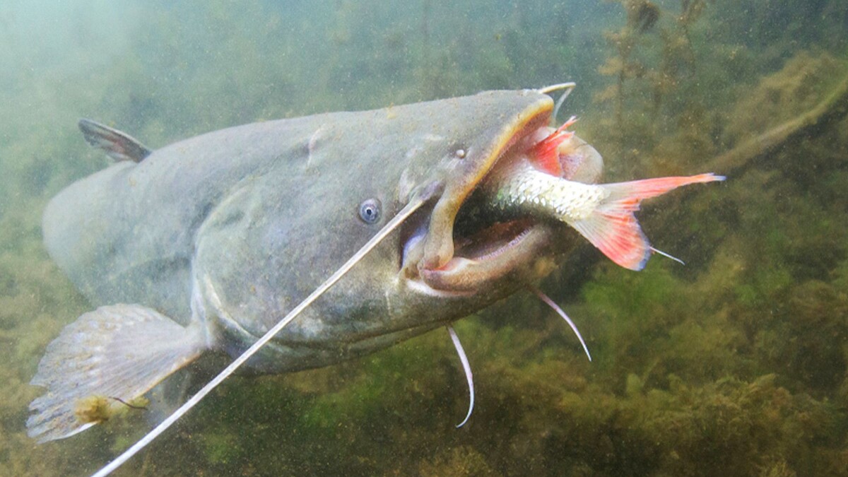
[[[656,17],[656,22],[653,21]],[[124,475],[848,474],[848,3],[223,0],[0,3],[0,474],[81,475],[145,429],[36,446],[27,383],[90,306],[40,216],[108,161],[92,117],[159,147],[225,126],[577,81],[606,179],[728,182],[641,214],[629,272],[584,250],[442,332],[332,368],[232,379]]]

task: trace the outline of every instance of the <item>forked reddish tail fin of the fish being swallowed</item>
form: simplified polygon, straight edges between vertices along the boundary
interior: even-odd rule
[[[588,217],[570,223],[611,261],[641,270],[654,251],[633,215],[642,200],[688,184],[723,180],[723,176],[709,173],[602,184],[599,187],[605,190],[605,199]]]

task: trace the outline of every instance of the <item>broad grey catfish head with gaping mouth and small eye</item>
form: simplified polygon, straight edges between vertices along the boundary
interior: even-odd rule
[[[276,335],[260,353],[271,359],[254,368],[311,368],[373,351],[550,272],[572,244],[561,224],[503,221],[485,201],[468,224],[457,217],[501,158],[550,134],[552,108],[543,93],[498,91],[252,125],[286,147],[274,146],[267,154],[279,160],[227,190],[195,240],[194,286],[223,324],[220,342],[231,354],[250,345],[425,191],[427,203],[399,232]],[[600,155],[577,137],[566,145],[568,177],[594,181]]]

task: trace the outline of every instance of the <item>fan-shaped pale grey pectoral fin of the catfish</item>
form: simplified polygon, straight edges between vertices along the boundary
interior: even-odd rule
[[[31,384],[27,434],[70,437],[128,407],[206,349],[204,331],[139,305],[102,306],[66,326],[47,346]]]

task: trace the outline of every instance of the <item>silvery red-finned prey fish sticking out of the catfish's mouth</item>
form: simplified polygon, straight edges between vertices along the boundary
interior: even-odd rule
[[[522,149],[522,153],[502,159],[478,188],[483,197],[477,201],[492,204],[512,216],[565,222],[616,264],[641,270],[657,251],[633,215],[641,201],[684,185],[723,181],[724,177],[707,173],[596,184],[591,183],[598,178],[594,175],[590,183],[579,182],[574,180],[579,178],[577,174],[568,171],[574,167],[573,161],[567,160],[569,151],[586,147],[567,131],[575,121],[572,117],[549,136]],[[577,162],[583,169],[589,164],[585,160]]]

